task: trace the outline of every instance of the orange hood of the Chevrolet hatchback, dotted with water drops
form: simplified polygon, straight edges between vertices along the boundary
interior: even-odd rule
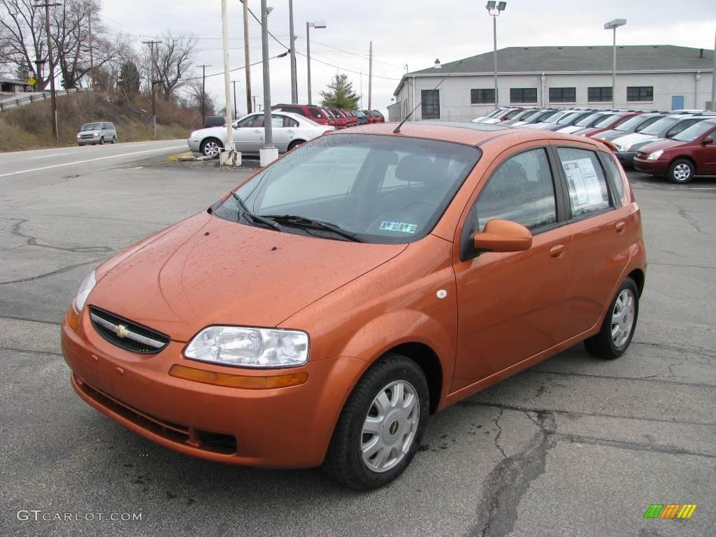
[[[199,213],[97,269],[87,304],[186,342],[210,324],[278,326],[405,250]]]

